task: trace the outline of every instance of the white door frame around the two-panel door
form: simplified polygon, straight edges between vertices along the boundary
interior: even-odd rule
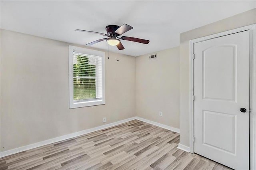
[[[250,169],[256,170],[256,24],[190,40],[190,152],[194,153],[194,43],[250,30]]]

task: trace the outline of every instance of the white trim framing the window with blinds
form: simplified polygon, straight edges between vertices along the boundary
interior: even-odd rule
[[[73,51],[102,57],[102,99],[90,99],[74,103]],[[105,105],[105,52],[69,45],[69,108]]]

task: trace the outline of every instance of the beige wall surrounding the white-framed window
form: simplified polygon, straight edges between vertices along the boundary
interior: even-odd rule
[[[135,116],[135,57],[109,54],[106,105],[69,109],[68,50],[1,30],[1,152]]]

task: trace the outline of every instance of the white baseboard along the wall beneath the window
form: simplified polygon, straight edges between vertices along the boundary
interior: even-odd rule
[[[29,149],[37,148],[37,147],[40,147],[40,146],[44,146],[46,144],[51,144],[51,143],[54,143],[54,142],[59,142],[59,141],[66,140],[66,139],[69,139],[69,138],[74,138],[76,136],[80,136],[80,135],[84,135],[84,134],[87,134],[87,133],[95,132],[97,130],[101,130],[101,129],[104,129],[104,128],[113,127],[113,126],[119,125],[121,123],[126,123],[128,121],[132,121],[132,120],[135,120],[135,119],[136,119],[136,117],[131,117],[131,118],[128,118],[128,119],[124,119],[122,121],[109,123],[107,125],[102,125],[102,126],[99,126],[99,127],[90,128],[90,129],[82,130],[82,131],[79,131],[79,132],[66,134],[64,136],[59,136],[59,137],[56,137],[56,138],[44,140],[42,142],[37,142],[37,143],[29,144],[29,145],[26,145],[26,146],[22,146],[22,147],[19,147],[19,148],[14,148],[14,149],[11,149],[11,150],[0,152],[0,158],[2,158],[4,156],[11,155],[11,154],[16,154],[18,152],[22,152],[22,151],[25,151],[25,150],[29,150]]]

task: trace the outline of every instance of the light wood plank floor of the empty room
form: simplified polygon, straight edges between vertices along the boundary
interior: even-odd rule
[[[0,169],[229,169],[178,143],[178,133],[134,120],[0,158]]]

